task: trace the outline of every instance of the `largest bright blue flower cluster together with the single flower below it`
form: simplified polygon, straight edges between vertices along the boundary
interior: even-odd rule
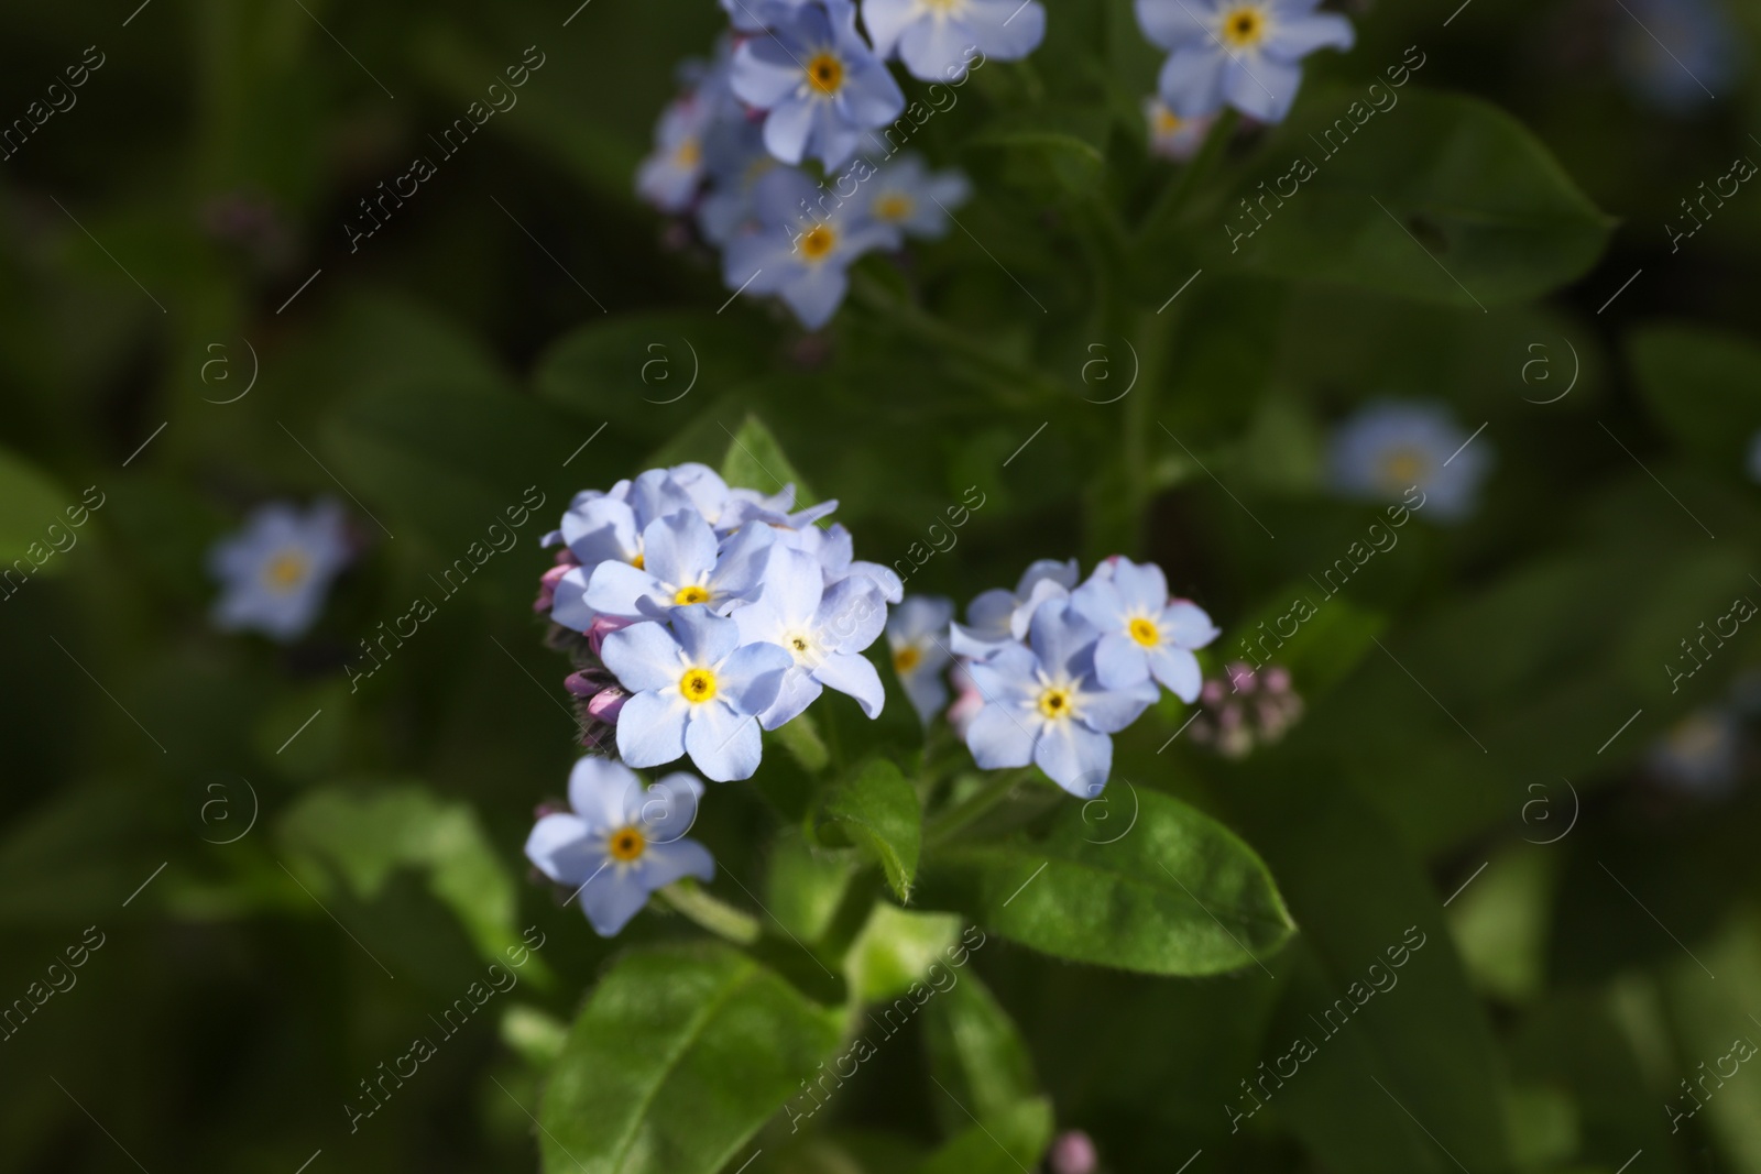
[[[685,773],[643,789],[630,767],[683,755],[715,781],[750,778],[759,730],[799,716],[826,688],[879,716],[880,674],[861,655],[903,597],[889,569],[854,558],[836,502],[794,509],[794,486],[766,496],[704,465],[652,468],[578,493],[534,607],[576,671],[593,753],[569,780],[572,811],[541,813],[527,855],[581,894],[593,929],[615,935],[657,889],[710,880],[710,852],[683,834],[703,783]]]

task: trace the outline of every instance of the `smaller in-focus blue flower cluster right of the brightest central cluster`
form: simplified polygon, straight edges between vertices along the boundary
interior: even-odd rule
[[[1109,558],[1078,586],[1076,560],[1035,561],[1014,591],[984,591],[951,623],[946,600],[905,600],[888,637],[917,713],[947,699],[939,679],[958,658],[949,720],[984,769],[1028,766],[1092,799],[1113,766],[1113,734],[1171,690],[1197,701],[1194,649],[1219,635],[1205,611],[1169,598],[1153,563]],[[946,634],[946,644],[942,635]]]

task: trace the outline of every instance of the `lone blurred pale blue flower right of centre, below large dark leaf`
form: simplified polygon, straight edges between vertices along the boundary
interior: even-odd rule
[[[1465,517],[1492,466],[1492,444],[1470,437],[1440,403],[1368,403],[1333,433],[1333,486],[1367,502],[1400,502],[1416,486],[1421,496],[1407,505]]]

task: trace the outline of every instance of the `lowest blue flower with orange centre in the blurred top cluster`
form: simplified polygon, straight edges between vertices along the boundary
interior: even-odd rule
[[[785,172],[759,180],[754,197],[763,227],[736,236],[722,255],[722,280],[736,292],[777,294],[810,331],[831,320],[849,290],[849,266],[888,248],[893,232],[836,208],[824,220],[796,224],[799,185]]]

